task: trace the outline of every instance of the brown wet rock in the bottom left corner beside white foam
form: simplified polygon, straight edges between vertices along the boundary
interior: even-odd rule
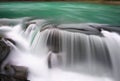
[[[4,74],[0,74],[0,81],[28,81],[27,75],[26,67],[7,64],[4,67]]]

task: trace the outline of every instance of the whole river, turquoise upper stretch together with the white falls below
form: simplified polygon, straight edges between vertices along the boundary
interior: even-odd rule
[[[0,37],[11,49],[2,67],[27,67],[30,81],[119,81],[120,31],[109,27],[119,25],[119,9],[74,2],[0,3]],[[17,17],[33,18],[7,19]]]

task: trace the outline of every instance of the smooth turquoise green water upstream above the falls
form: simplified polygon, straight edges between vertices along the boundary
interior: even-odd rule
[[[120,5],[80,2],[2,2],[0,18],[39,17],[62,23],[120,25]]]

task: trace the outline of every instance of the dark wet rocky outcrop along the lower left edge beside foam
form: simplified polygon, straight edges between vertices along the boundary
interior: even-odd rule
[[[10,46],[5,43],[6,40],[12,41],[0,38],[0,81],[28,81],[26,67],[7,64],[1,68],[2,63],[10,54]]]

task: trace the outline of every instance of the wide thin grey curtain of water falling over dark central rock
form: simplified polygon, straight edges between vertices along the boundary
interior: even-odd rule
[[[58,55],[62,68],[93,72],[95,75],[99,72],[111,74],[111,57],[104,36],[72,33],[56,28],[50,31],[47,46]]]

